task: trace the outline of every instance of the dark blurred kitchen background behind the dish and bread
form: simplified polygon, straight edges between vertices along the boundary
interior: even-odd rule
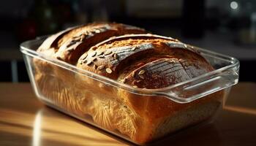
[[[8,0],[0,5],[0,82],[29,82],[21,42],[70,26],[114,21],[146,28],[241,61],[256,82],[255,0]]]

